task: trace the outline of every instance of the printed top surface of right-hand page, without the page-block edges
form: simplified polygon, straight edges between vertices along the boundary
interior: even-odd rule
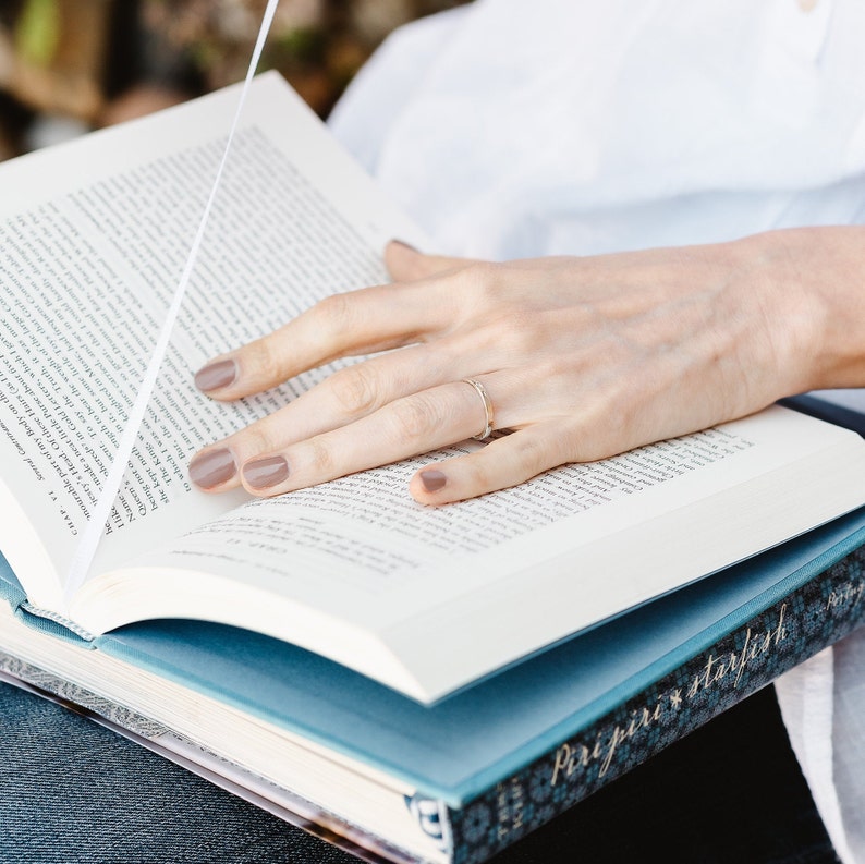
[[[416,504],[406,490],[418,465],[443,455],[431,454],[252,502],[136,567],[249,581],[275,597],[383,629],[770,472],[802,443],[772,443],[791,418],[793,433],[804,423],[805,438],[823,429],[778,410],[437,509]],[[616,586],[609,589],[614,595]]]

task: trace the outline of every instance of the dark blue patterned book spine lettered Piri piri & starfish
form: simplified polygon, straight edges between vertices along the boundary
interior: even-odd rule
[[[710,648],[461,810],[453,864],[480,864],[865,621],[865,551],[841,559]]]

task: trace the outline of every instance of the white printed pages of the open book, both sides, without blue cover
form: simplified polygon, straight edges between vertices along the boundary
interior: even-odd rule
[[[87,641],[205,619],[434,702],[865,502],[865,443],[782,407],[440,509],[436,457],[249,501],[190,457],[336,364],[224,405],[193,372],[422,232],[275,75],[257,81],[125,482],[64,586],[209,193],[236,93],[0,166],[0,551],[26,616]],[[455,450],[479,447],[459,445]]]

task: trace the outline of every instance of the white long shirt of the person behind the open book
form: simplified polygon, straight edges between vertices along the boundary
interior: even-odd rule
[[[862,0],[476,0],[392,36],[331,125],[435,239],[488,258],[865,222]],[[779,685],[865,863],[865,634]]]

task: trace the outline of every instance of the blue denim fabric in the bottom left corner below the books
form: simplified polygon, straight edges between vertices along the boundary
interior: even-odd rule
[[[0,684],[2,864],[356,864],[90,720]]]

